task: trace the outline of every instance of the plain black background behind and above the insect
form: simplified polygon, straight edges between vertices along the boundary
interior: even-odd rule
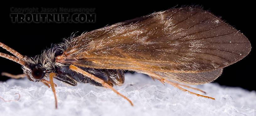
[[[138,1],[137,1],[138,2]],[[200,5],[204,10],[209,10],[222,20],[240,30],[251,42],[252,50],[248,56],[237,63],[224,68],[222,75],[215,80],[221,85],[238,86],[248,90],[256,90],[255,88],[255,8],[253,3],[244,2],[227,2],[208,1],[208,2],[173,2],[155,1],[147,3],[74,3],[73,5],[22,5],[14,2],[2,4],[1,19],[1,37],[0,41],[20,54],[25,56],[35,56],[42,50],[51,46],[51,43],[59,43],[62,38],[68,38],[72,32],[81,34],[84,31],[92,31],[106,25],[115,24],[117,22],[144,16],[153,12],[167,10],[169,8],[180,7],[182,5]],[[62,4],[62,3],[61,3]],[[10,18],[10,7],[26,8],[26,7],[48,7],[48,8],[95,8],[95,23],[12,23]],[[8,53],[0,49],[0,52]],[[21,66],[13,61],[0,58],[0,73],[9,72],[12,74],[21,74]],[[7,80],[8,77],[0,77],[0,80]],[[28,80],[29,81],[29,80]]]

